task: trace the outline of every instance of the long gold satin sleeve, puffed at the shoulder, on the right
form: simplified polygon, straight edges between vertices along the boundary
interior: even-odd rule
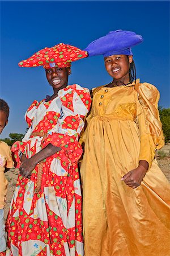
[[[151,166],[155,151],[164,146],[162,123],[159,118],[159,91],[154,85],[144,82],[136,84],[138,93],[137,122],[141,137],[139,160],[146,160]]]

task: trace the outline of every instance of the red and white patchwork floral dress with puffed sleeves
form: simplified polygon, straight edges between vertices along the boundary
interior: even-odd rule
[[[31,158],[49,143],[62,150],[44,159],[39,192],[39,164],[31,179],[18,176],[6,222],[10,255],[83,255],[78,138],[90,105],[89,90],[75,84],[53,100],[34,101],[27,110],[29,130],[12,146],[17,167],[20,152]],[[32,135],[42,132],[46,138]]]

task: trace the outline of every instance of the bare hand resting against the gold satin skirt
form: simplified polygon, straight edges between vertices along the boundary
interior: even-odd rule
[[[147,170],[148,170],[147,167],[143,166],[142,164],[139,164],[137,168],[125,174],[121,178],[121,180],[123,180],[126,183],[126,185],[128,185],[129,187],[137,188],[139,185],[141,185],[141,182]]]

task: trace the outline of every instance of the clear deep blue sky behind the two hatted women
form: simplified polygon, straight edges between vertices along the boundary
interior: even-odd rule
[[[85,48],[109,31],[141,34],[144,42],[133,48],[137,77],[160,91],[159,104],[169,108],[169,1],[1,1],[0,96],[10,106],[1,138],[25,133],[24,113],[33,100],[52,94],[45,72],[19,68],[18,62],[44,47],[67,43]],[[92,88],[111,81],[103,56],[72,65],[69,84]]]

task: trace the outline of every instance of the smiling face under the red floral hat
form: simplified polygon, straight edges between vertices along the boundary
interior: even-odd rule
[[[68,83],[68,76],[71,73],[70,68],[49,68],[45,69],[46,79],[53,86],[53,90],[65,88]]]

